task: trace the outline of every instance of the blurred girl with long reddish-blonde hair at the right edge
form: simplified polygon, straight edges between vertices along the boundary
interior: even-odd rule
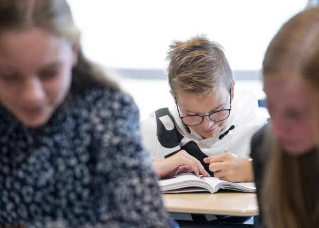
[[[319,227],[319,9],[290,19],[263,61],[271,126],[252,141],[262,223]]]

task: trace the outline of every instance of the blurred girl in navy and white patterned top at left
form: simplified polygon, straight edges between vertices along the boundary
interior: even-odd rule
[[[170,226],[138,109],[64,0],[0,1],[0,120],[0,226]]]

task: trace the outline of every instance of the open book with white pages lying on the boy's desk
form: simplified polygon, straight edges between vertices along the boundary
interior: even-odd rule
[[[216,193],[219,189],[231,189],[240,192],[254,193],[254,182],[232,183],[219,180],[216,177],[200,177],[192,173],[182,173],[168,179],[158,180],[162,192],[187,193],[187,192],[210,192]]]

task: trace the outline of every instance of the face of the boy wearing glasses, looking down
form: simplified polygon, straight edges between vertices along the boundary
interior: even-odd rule
[[[233,86],[232,86],[233,91]],[[173,94],[172,94],[173,95]],[[180,92],[176,96],[177,105],[180,110],[181,117],[187,115],[210,115],[212,112],[230,108],[230,92],[221,86],[214,94],[207,96],[199,96],[193,93]],[[227,119],[214,122],[209,117],[204,117],[201,124],[189,126],[196,133],[204,138],[219,136],[226,127]]]

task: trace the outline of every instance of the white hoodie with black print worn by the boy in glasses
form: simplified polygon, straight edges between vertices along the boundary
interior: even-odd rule
[[[232,125],[234,125],[235,128],[229,131],[222,139],[219,139],[219,135],[211,138],[203,138],[191,128],[189,128],[189,133],[179,118],[175,105],[170,109],[170,113],[174,118],[176,126],[174,126],[174,123],[168,116],[161,117],[160,121],[168,131],[174,129],[174,127],[177,128],[178,132],[183,136],[180,143],[173,148],[168,148],[158,141],[155,112],[152,112],[147,119],[141,121],[142,143],[155,160],[164,159],[165,156],[180,150],[182,146],[190,141],[194,141],[208,157],[219,155],[226,150],[238,157],[248,159],[250,158],[251,138],[253,134],[266,123],[265,117],[257,115],[257,108],[258,102],[252,92],[237,92],[231,103],[230,116],[227,119],[226,127],[219,135],[223,134]],[[190,153],[190,151],[187,152]]]

